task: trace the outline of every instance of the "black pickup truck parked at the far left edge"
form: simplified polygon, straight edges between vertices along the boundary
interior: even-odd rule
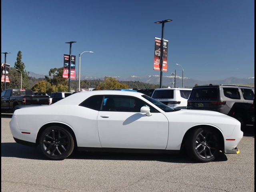
[[[35,96],[29,89],[6,89],[1,93],[1,111],[13,110],[18,105],[48,105],[49,96]]]

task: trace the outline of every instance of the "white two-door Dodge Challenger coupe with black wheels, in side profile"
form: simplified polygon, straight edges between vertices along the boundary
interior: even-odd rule
[[[243,132],[230,116],[178,110],[130,91],[73,94],[50,106],[18,109],[10,121],[14,140],[40,146],[52,160],[85,151],[161,152],[184,150],[210,162],[221,152],[239,153]]]

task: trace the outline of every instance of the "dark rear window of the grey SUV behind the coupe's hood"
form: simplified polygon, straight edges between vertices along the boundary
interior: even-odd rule
[[[191,100],[218,100],[218,88],[194,88],[190,94]]]

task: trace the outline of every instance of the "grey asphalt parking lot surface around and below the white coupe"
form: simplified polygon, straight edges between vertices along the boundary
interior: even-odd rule
[[[96,152],[52,161],[39,148],[14,142],[11,116],[1,115],[3,192],[254,192],[254,131],[244,133],[240,154],[223,154],[210,163],[183,155]]]

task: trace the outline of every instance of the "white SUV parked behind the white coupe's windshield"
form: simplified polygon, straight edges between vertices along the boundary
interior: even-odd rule
[[[152,98],[177,109],[186,109],[192,88],[155,89]]]

